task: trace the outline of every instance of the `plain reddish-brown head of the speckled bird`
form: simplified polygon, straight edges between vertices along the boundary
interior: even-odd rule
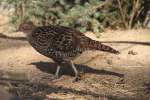
[[[25,34],[30,34],[34,29],[35,25],[31,21],[23,22],[19,25],[18,32],[24,32]]]

